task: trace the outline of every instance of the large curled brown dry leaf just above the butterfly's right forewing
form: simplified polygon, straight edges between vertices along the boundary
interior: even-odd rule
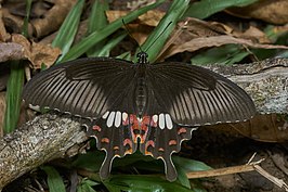
[[[241,33],[218,22],[186,18],[186,21],[179,23],[157,60],[163,60],[179,52],[193,52],[202,48],[230,43],[262,49],[287,49],[283,46],[261,44],[264,42],[270,42],[269,38],[256,27],[250,27]]]

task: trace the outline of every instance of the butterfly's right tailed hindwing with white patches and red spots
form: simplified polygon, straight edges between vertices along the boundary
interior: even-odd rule
[[[189,140],[196,128],[181,127],[171,120],[169,114],[159,114],[144,116],[141,129],[141,153],[162,159],[167,180],[174,181],[178,175],[171,155],[181,150],[182,141]]]

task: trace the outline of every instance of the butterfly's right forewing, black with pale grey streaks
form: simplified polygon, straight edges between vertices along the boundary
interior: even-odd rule
[[[250,97],[227,78],[185,63],[156,63],[147,69],[155,102],[179,125],[243,121],[256,114]],[[147,112],[154,112],[150,105]]]

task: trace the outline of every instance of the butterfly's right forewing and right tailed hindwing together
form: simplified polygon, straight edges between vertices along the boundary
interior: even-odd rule
[[[223,76],[184,63],[147,65],[147,119],[142,120],[144,142],[140,151],[161,158],[166,177],[176,171],[171,155],[191,139],[195,126],[251,118],[256,107],[250,97]]]

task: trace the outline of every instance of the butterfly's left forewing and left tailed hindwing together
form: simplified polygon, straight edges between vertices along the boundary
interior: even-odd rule
[[[136,65],[107,57],[82,59],[51,67],[24,88],[27,104],[48,106],[89,118],[88,135],[106,152],[100,176],[109,175],[113,159],[136,150],[134,94]],[[134,121],[133,121],[134,119]],[[136,129],[136,128],[135,128]],[[136,130],[135,130],[136,131]]]

